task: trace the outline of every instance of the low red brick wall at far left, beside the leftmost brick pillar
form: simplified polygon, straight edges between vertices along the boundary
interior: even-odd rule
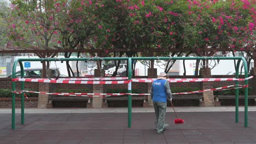
[[[38,98],[25,98],[25,107],[37,107]],[[11,107],[11,98],[0,98],[0,108]],[[21,107],[21,98],[15,99],[15,107]]]

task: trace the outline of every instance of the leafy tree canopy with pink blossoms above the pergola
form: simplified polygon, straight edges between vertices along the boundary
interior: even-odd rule
[[[12,3],[7,29],[13,46],[141,49],[146,54],[149,49],[162,49],[159,56],[166,56],[170,48],[200,50],[225,44],[228,49],[240,49],[255,44],[254,1]]]

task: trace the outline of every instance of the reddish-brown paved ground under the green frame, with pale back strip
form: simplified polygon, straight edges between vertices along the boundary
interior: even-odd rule
[[[160,135],[152,108],[132,110],[132,127],[127,128],[127,108],[25,109],[24,125],[16,109],[16,129],[11,130],[10,109],[0,109],[0,144],[256,143],[256,107],[249,107],[247,128],[243,107],[239,123],[234,107],[176,107],[184,124],[174,124],[176,117],[168,107],[170,126]]]

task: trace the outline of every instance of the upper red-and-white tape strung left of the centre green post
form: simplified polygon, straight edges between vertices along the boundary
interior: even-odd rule
[[[15,78],[13,81],[25,82],[45,82],[45,83],[72,83],[72,84],[123,84],[129,83],[131,80],[126,81],[65,81],[65,80],[49,80],[49,79],[20,79]]]

